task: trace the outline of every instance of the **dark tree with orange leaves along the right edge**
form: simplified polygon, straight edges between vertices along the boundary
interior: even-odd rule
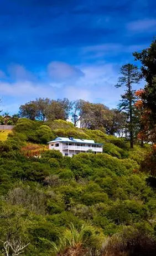
[[[153,143],[152,152],[145,157],[141,169],[156,176],[156,40],[141,53],[133,53],[141,61],[142,77],[147,82],[143,90],[138,90],[136,106],[142,110],[142,130],[138,137]]]

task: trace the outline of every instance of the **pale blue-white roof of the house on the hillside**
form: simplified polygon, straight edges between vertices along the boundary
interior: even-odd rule
[[[94,140],[84,140],[84,139],[75,139],[72,137],[65,138],[65,137],[56,137],[55,140],[49,141],[48,143],[53,143],[53,142],[78,142],[78,143],[87,143],[87,144],[96,144],[96,145],[102,145],[102,143],[95,143]]]

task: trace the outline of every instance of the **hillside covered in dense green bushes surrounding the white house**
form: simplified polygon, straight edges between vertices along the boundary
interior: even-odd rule
[[[63,157],[47,149],[56,136],[102,142],[103,154]],[[0,146],[1,252],[8,238],[28,244],[26,256],[155,255],[155,191],[139,169],[148,150],[62,120],[19,120]]]

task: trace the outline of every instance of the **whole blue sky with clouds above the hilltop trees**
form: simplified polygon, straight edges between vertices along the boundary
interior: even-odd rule
[[[37,97],[115,107],[119,67],[156,35],[154,0],[5,0],[0,99],[9,113]],[[141,87],[141,85],[136,86]]]

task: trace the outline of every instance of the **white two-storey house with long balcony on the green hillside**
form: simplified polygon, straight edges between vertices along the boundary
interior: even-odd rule
[[[49,141],[49,149],[59,150],[64,156],[73,156],[80,152],[92,150],[96,153],[102,153],[102,143],[95,143],[94,140],[74,139],[73,137],[56,137]]]

